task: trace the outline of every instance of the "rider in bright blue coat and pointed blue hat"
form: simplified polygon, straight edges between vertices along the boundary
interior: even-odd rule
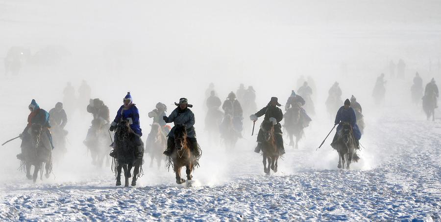
[[[132,129],[133,133],[135,134],[135,136],[133,137],[133,142],[137,144],[137,149],[135,149],[135,156],[137,158],[142,158],[144,155],[143,142],[141,141],[141,136],[143,135],[143,133],[139,123],[139,111],[132,101],[132,96],[130,95],[130,92],[127,92],[127,95],[125,95],[125,97],[123,98],[123,105],[118,110],[117,115],[110,125],[109,130],[114,131],[117,128],[121,119],[128,120],[130,129]],[[117,138],[116,135],[115,138]],[[113,151],[110,153],[110,156],[115,158],[117,154],[117,149],[119,149],[119,147],[113,146]]]

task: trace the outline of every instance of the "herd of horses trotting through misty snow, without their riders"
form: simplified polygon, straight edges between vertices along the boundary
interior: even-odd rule
[[[303,130],[306,127],[305,123],[301,118],[301,108],[292,107],[288,109],[285,113],[285,130],[290,138],[290,145],[295,148],[298,147],[298,142],[303,136]],[[228,117],[228,116],[227,116]],[[219,121],[219,120],[217,120]],[[226,129],[230,132],[234,132],[232,117],[223,118],[221,125],[224,124]],[[108,131],[108,124],[101,124],[98,120],[92,121],[92,126],[90,133],[88,133],[88,138],[85,141],[85,145],[88,147],[92,157],[92,164],[102,167],[104,161],[106,164],[110,165],[110,156],[108,155],[111,144],[112,136]],[[270,174],[272,170],[274,173],[277,172],[277,162],[280,157],[277,144],[275,140],[274,125],[270,121],[263,121],[260,125],[264,133],[264,142],[262,146],[262,157],[264,172]],[[47,133],[44,133],[42,127],[38,124],[33,124],[30,128],[30,137],[32,141],[32,149],[28,149],[26,153],[26,159],[22,162],[25,168],[26,176],[29,179],[33,179],[35,182],[38,177],[38,172],[41,170],[43,174],[43,169],[46,169],[46,177],[49,177],[51,167],[52,167],[52,149],[49,145],[49,138]],[[53,133],[56,135],[57,133]],[[231,133],[229,140],[236,140],[236,133]],[[358,161],[359,157],[355,153],[355,140],[352,135],[352,128],[350,125],[343,123],[342,131],[339,133],[339,140],[337,146],[334,149],[337,150],[339,154],[339,164],[338,168],[349,169],[349,165],[353,161]],[[142,176],[142,165],[144,158],[137,158],[135,149],[139,144],[136,144],[134,140],[134,133],[131,130],[128,121],[122,119],[118,124],[115,131],[115,146],[118,147],[116,158],[112,159],[112,170],[115,172],[116,185],[122,185],[121,177],[123,171],[124,186],[129,186],[129,178],[132,178],[131,185],[135,186],[137,179]],[[294,140],[295,137],[295,140]],[[227,137],[225,137],[226,139]],[[57,141],[59,137],[54,136],[54,143],[60,143]],[[187,140],[187,131],[185,126],[176,125],[174,131],[175,147],[173,153],[170,157],[166,157],[162,152],[167,147],[167,138],[163,128],[157,124],[153,123],[151,125],[150,133],[147,136],[147,149],[144,151],[150,157],[150,167],[153,167],[153,162],[156,160],[157,167],[161,166],[161,162],[165,161],[166,166],[172,168],[176,176],[176,183],[181,184],[186,182],[186,179],[181,177],[181,169],[186,168],[187,180],[193,178],[192,172],[195,167],[198,166],[196,157],[190,151],[190,147]],[[234,141],[234,143],[236,142]],[[229,148],[234,147],[234,143],[229,145]],[[144,147],[144,144],[142,144]],[[346,165],[345,165],[346,163]],[[30,175],[30,167],[34,166],[33,176]],[[133,169],[133,174],[131,173]]]

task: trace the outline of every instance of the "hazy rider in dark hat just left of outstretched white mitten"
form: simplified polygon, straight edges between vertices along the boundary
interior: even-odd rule
[[[230,92],[227,99],[223,102],[222,110],[225,111],[225,115],[229,114],[233,117],[233,125],[235,131],[242,137],[243,124],[243,111],[239,100],[236,99],[236,94]]]

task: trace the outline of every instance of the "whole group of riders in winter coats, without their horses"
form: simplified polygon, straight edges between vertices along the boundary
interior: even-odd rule
[[[383,90],[384,92],[385,83],[386,81],[384,81],[384,75],[382,74],[377,79],[375,90]],[[282,105],[278,102],[277,97],[271,97],[268,105],[257,111],[254,89],[249,87],[245,90],[243,84],[240,85],[237,93],[230,92],[223,103],[216,95],[214,86],[211,85],[209,89],[211,90],[209,90],[209,96],[205,101],[207,107],[205,127],[207,131],[219,132],[221,138],[224,140],[234,137],[235,141],[237,141],[238,138],[242,138],[244,112],[255,112],[249,116],[249,119],[253,122],[256,122],[258,117],[264,116],[257,135],[257,146],[254,149],[256,153],[262,151],[263,144],[265,144],[268,139],[267,131],[263,127],[264,123],[272,125],[272,136],[277,147],[277,152],[279,155],[283,155],[285,154],[285,148],[282,137],[282,126],[289,134],[291,140],[290,146],[294,146],[293,136],[297,138],[295,141],[295,147],[297,147],[298,140],[303,136],[303,129],[308,127],[312,121],[307,113],[314,113],[314,106],[311,99],[313,90],[308,86],[306,81],[298,89],[298,93],[295,93],[294,90],[292,91],[285,104],[285,114],[279,108]],[[414,78],[414,85],[411,91],[412,98],[417,102],[417,98],[421,98],[422,94],[422,80],[418,73]],[[347,124],[348,126],[350,125],[352,132],[351,137],[355,142],[356,149],[359,149],[359,140],[365,128],[362,107],[353,95],[350,99],[346,99],[344,103],[341,96],[342,90],[336,82],[329,89],[329,96],[326,100],[329,113],[335,113],[337,110],[335,125],[338,125],[338,127],[331,146],[334,148],[337,146],[336,144],[339,138],[341,138],[344,133],[344,124]],[[424,95],[422,96],[423,108],[426,109],[426,107],[430,107],[432,111],[434,108],[437,108],[436,101],[438,96],[438,87],[435,84],[435,80],[432,79],[425,87]],[[342,103],[343,106],[341,106]],[[242,104],[246,104],[246,111],[244,111]],[[193,105],[189,104],[186,98],[180,98],[179,102],[175,103],[175,105],[176,108],[168,116],[166,114],[167,106],[163,103],[157,103],[155,109],[148,112],[148,117],[153,119],[153,125],[157,126],[157,131],[152,133],[152,125],[152,132],[147,136],[147,149],[145,150],[144,143],[141,140],[143,133],[140,126],[139,110],[133,103],[130,92],[123,98],[123,105],[117,111],[112,122],[110,122],[109,108],[104,102],[98,98],[90,99],[86,110],[93,115],[93,120],[83,143],[90,148],[96,164],[102,163],[104,156],[107,156],[107,159],[109,156],[115,159],[125,158],[123,155],[125,155],[126,147],[122,144],[126,143],[122,143],[121,141],[128,141],[129,144],[131,144],[133,149],[130,155],[132,155],[134,159],[139,160],[143,158],[144,152],[152,152],[150,146],[158,140],[156,134],[159,133],[163,135],[163,149],[165,149],[163,154],[171,156],[175,149],[182,146],[181,138],[175,138],[177,134],[175,129],[177,126],[181,128],[183,126],[185,128],[185,144],[188,145],[191,154],[197,161],[197,159],[200,158],[201,149],[196,139],[194,127],[195,114],[190,109]],[[17,155],[17,157],[24,162],[29,162],[30,159],[35,158],[35,150],[37,148],[41,149],[39,147],[43,147],[44,150],[38,153],[37,159],[39,162],[37,161],[36,164],[38,165],[38,163],[40,163],[40,167],[42,163],[51,165],[52,150],[55,147],[60,147],[60,149],[65,149],[66,147],[66,135],[68,132],[64,128],[68,119],[63,109],[63,103],[56,103],[55,107],[47,112],[41,109],[35,100],[32,100],[28,108],[30,111],[27,118],[28,124],[23,133],[20,134],[22,138],[22,153]],[[282,119],[284,119],[283,125],[281,124]],[[173,123],[174,126],[171,128],[167,125],[168,123]],[[124,126],[122,126],[122,124],[127,126],[127,132],[123,130]],[[34,126],[38,126],[38,128]],[[113,137],[109,136],[112,131],[115,132]],[[96,147],[107,147],[107,149],[109,149],[109,144],[110,147],[113,148],[110,155],[107,155],[108,150],[106,151],[105,149],[101,149],[103,151],[101,151],[100,154],[98,154],[99,152],[93,152],[93,150],[97,150]],[[28,170],[26,173],[27,176],[30,177]]]

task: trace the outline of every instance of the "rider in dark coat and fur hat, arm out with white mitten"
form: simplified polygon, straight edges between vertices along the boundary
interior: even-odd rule
[[[260,111],[256,112],[249,116],[251,121],[257,121],[258,117],[265,115],[264,121],[270,121],[274,125],[274,137],[277,142],[277,149],[279,150],[280,155],[285,154],[285,147],[283,146],[283,137],[282,137],[282,125],[280,125],[280,121],[283,119],[282,110],[278,107],[282,106],[277,102],[277,97],[271,97],[270,103]],[[264,140],[264,134],[262,129],[259,130],[259,134],[257,134],[257,147],[254,149],[254,152],[260,153],[262,149],[262,142]]]

